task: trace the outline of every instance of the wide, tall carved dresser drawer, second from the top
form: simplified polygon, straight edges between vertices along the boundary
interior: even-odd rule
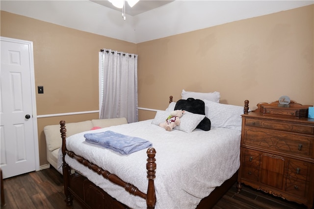
[[[314,137],[266,129],[244,128],[242,145],[277,151],[290,155],[313,157]]]

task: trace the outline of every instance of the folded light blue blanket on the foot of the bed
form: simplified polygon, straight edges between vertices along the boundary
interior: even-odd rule
[[[101,145],[123,155],[151,147],[153,144],[142,138],[123,135],[113,131],[99,133],[85,133],[85,141]]]

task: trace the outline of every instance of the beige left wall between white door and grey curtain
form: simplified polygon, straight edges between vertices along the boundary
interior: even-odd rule
[[[98,52],[113,49],[136,52],[133,43],[83,32],[1,11],[3,37],[33,42],[37,115],[99,109]],[[98,118],[98,113],[38,118],[40,165],[47,164],[43,128],[60,120],[78,122]]]

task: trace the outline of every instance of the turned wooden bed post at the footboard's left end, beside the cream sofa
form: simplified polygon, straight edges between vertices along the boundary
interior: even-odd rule
[[[62,138],[62,172],[63,172],[63,181],[64,181],[64,194],[65,194],[65,202],[67,206],[71,206],[73,204],[73,197],[72,194],[68,190],[69,186],[69,177],[70,177],[70,167],[65,162],[65,155],[66,155],[66,145],[65,145],[65,139],[67,137],[67,129],[65,128],[65,121],[60,121],[60,133]]]

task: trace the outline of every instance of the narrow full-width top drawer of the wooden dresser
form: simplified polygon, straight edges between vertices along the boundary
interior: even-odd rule
[[[296,133],[314,134],[314,126],[307,126],[302,124],[290,124],[285,122],[262,120],[254,118],[245,119],[246,126],[261,127],[266,129],[276,129],[282,131],[293,131]]]

